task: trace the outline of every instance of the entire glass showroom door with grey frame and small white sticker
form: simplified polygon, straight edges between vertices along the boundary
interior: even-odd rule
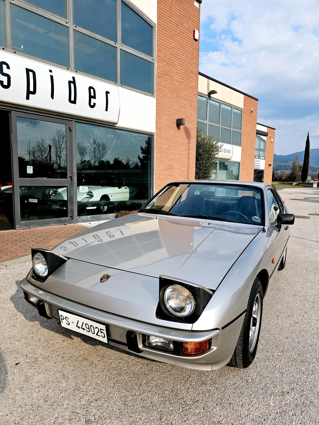
[[[73,223],[71,122],[12,113],[16,228]]]

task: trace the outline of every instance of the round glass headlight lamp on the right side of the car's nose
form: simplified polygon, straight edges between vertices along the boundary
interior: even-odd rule
[[[170,285],[165,289],[164,303],[175,316],[189,316],[195,309],[195,300],[191,292],[177,284]]]

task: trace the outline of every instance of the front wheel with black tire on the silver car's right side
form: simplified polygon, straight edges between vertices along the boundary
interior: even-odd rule
[[[248,368],[255,358],[260,326],[262,323],[262,284],[258,278],[253,282],[249,295],[247,311],[235,351],[228,363],[234,368]],[[255,323],[255,326],[253,324]]]

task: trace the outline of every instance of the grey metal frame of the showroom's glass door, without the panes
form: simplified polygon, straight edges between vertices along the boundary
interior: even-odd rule
[[[38,121],[56,122],[66,126],[66,158],[67,158],[67,178],[20,178],[18,163],[17,144],[17,117],[37,119]],[[11,111],[11,131],[12,131],[12,189],[14,197],[14,217],[16,229],[29,229],[32,227],[54,226],[57,224],[74,223],[74,170],[73,170],[73,140],[72,122],[67,119],[52,118],[50,116],[38,115],[36,113],[26,113]],[[63,218],[48,218],[43,220],[22,221],[20,216],[20,186],[66,186],[68,201],[68,216]],[[22,226],[21,226],[21,223]]]

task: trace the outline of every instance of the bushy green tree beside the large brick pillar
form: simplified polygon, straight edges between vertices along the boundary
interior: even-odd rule
[[[216,164],[216,156],[221,147],[222,144],[219,144],[219,139],[214,139],[211,133],[207,136],[206,131],[204,132],[202,127],[197,124],[195,164],[195,178],[197,180],[211,178]]]

